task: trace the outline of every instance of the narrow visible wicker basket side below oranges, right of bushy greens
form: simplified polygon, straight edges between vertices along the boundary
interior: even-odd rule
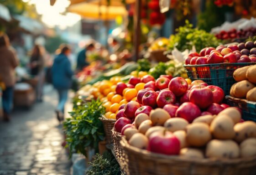
[[[106,137],[106,144],[109,144],[109,145],[113,144],[112,128],[114,127],[116,120],[115,119],[106,118],[104,115],[101,116],[99,119],[103,123],[105,137]]]

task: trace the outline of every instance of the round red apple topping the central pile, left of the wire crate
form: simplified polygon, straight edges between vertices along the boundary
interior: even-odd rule
[[[168,88],[176,96],[182,96],[188,90],[188,82],[183,77],[175,77],[170,81]]]

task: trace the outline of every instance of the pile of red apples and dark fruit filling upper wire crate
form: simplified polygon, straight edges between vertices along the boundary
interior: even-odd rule
[[[186,65],[256,62],[256,41],[238,45],[205,47],[199,53],[192,52],[185,59]]]

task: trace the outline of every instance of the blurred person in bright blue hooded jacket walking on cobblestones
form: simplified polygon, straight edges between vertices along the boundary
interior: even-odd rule
[[[68,99],[68,89],[72,85],[73,71],[71,63],[68,60],[71,49],[68,45],[60,46],[60,54],[53,61],[52,65],[52,84],[57,89],[59,101],[56,109],[57,119],[64,120],[64,106]]]

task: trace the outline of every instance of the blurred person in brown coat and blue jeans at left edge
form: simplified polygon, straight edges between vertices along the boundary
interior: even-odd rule
[[[2,103],[4,109],[4,120],[10,120],[10,112],[13,106],[13,91],[16,82],[15,67],[19,64],[16,51],[10,46],[6,34],[0,34],[0,77],[5,83]]]

